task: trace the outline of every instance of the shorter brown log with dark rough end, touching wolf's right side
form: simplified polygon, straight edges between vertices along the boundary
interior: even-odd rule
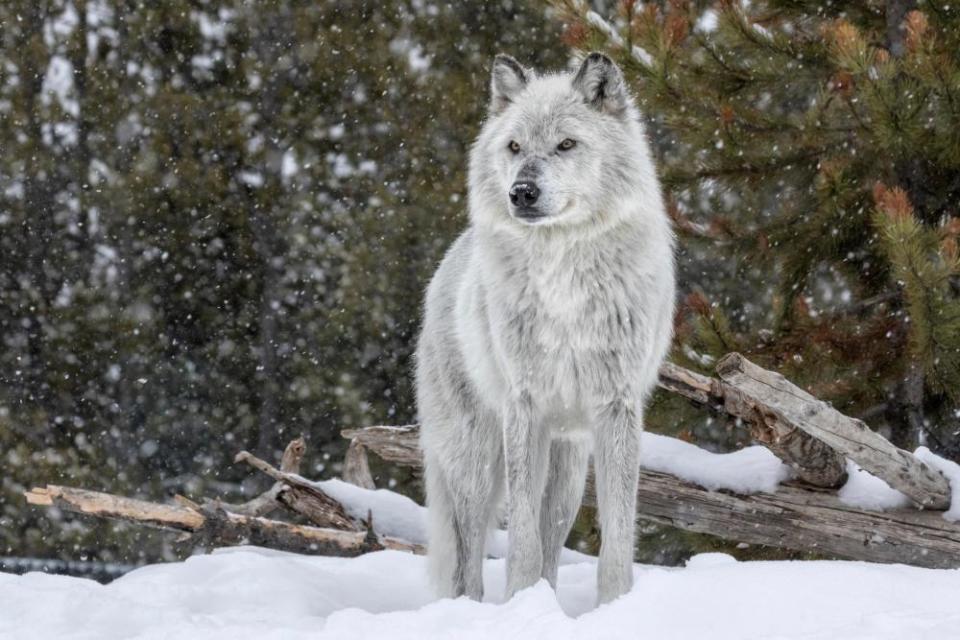
[[[780,420],[762,402],[746,402],[736,386],[672,363],[660,367],[661,389],[713,411],[743,420],[754,440],[789,465],[797,477],[817,487],[839,487],[847,478],[842,454]]]

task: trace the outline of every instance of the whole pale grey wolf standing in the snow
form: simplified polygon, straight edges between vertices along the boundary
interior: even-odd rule
[[[645,401],[673,326],[674,239],[620,69],[496,57],[467,230],[427,289],[416,353],[431,577],[483,597],[506,497],[507,592],[546,578],[593,456],[598,599],[633,582]]]

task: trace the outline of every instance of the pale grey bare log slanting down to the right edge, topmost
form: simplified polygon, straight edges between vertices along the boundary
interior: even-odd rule
[[[840,413],[778,373],[753,364],[738,353],[725,356],[717,373],[726,386],[728,404],[753,408],[776,428],[807,434],[856,462],[918,505],[950,506],[950,484],[939,471],[898,449],[861,420]]]

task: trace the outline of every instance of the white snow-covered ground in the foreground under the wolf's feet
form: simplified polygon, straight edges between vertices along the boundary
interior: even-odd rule
[[[503,603],[504,563],[489,560],[481,604],[435,600],[425,559],[401,552],[225,549],[106,586],[0,574],[0,638],[946,640],[960,629],[960,571],[709,554],[684,569],[638,565],[634,590],[599,609],[594,572],[565,565],[557,595],[541,583]]]

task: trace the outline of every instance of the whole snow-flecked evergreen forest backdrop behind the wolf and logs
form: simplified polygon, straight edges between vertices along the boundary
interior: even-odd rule
[[[960,6],[6,0],[0,556],[189,551],[57,522],[33,485],[237,497],[263,488],[238,450],[304,433],[327,477],[341,428],[413,422],[489,62],[589,49],[627,73],[681,236],[674,358],[740,350],[960,459]],[[748,437],[659,395],[649,428]],[[712,544],[647,527],[639,553]]]

